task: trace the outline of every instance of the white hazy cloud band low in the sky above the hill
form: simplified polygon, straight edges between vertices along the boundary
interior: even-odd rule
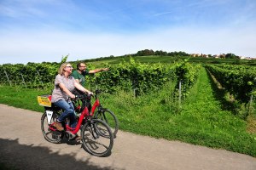
[[[6,33],[0,39],[0,64],[92,59],[137,53],[145,48],[167,52],[256,57],[256,28],[195,27],[145,31],[139,34],[69,33],[60,31]]]

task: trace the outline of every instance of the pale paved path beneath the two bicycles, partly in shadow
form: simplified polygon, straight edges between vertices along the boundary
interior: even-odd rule
[[[90,156],[81,144],[47,142],[40,128],[41,115],[0,104],[0,162],[26,170],[256,169],[252,156],[121,131],[111,156]]]

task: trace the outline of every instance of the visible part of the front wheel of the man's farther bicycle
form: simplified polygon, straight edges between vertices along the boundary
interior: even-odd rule
[[[119,121],[118,118],[114,115],[113,111],[110,111],[109,109],[98,110],[96,112],[95,118],[106,122],[111,128],[113,138],[116,138],[116,134],[119,130]]]

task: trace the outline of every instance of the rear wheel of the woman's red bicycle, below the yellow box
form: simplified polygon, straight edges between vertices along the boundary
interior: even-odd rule
[[[56,121],[57,117],[58,117],[58,114],[56,114],[54,112],[49,124],[54,123]],[[61,139],[63,138],[64,134],[61,132],[58,132],[58,131],[50,130],[49,124],[48,124],[46,112],[44,112],[44,114],[41,117],[41,130],[44,135],[44,139],[46,139],[47,141],[54,143],[54,144],[61,143]]]

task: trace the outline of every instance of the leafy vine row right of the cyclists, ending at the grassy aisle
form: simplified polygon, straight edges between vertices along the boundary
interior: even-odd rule
[[[190,65],[187,61],[178,61],[175,64],[141,64],[130,59],[119,65],[112,65],[108,72],[102,72],[87,77],[88,87],[96,85],[98,88],[113,93],[117,89],[133,90],[135,96],[158,90],[168,82],[178,84],[177,79],[183,80],[183,94],[192,87],[196,81],[200,65]]]

